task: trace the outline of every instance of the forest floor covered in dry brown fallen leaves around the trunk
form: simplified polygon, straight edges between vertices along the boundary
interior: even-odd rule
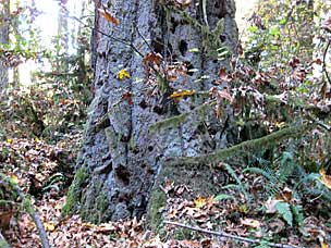
[[[61,210],[73,177],[81,139],[82,133],[76,132],[56,145],[24,138],[8,138],[0,144],[1,169],[26,194],[33,196],[33,204],[44,223],[51,247],[253,247],[237,237],[252,240],[262,238],[265,243],[255,246],[260,248],[269,247],[268,241],[311,248],[327,248],[331,243],[330,215],[319,211],[321,208],[328,211],[330,206],[322,206],[319,199],[307,202],[304,204],[302,224],[297,226],[294,220],[286,219],[286,214],[277,212],[275,203],[281,197],[266,199],[260,194],[263,177],[247,175],[241,169],[235,173],[249,188],[236,190],[229,187],[226,194],[219,196],[200,196],[187,200],[182,197],[191,190],[186,185],[168,182],[163,185],[163,191],[169,196],[168,203],[160,210],[169,221],[205,231],[221,230],[234,235],[233,238],[211,236],[173,225],[164,225],[166,232],[155,235],[146,228],[144,220],[94,225],[83,222],[78,215],[63,218]],[[228,179],[229,185],[234,183]],[[9,191],[5,187],[9,186],[2,182],[0,191]],[[246,194],[253,195],[254,200],[247,201]],[[282,197],[295,201],[290,187],[284,187]],[[1,198],[5,199],[5,194]],[[22,199],[12,202],[10,209],[0,208],[0,215],[1,233],[12,247],[41,247],[36,225],[22,208]],[[5,215],[9,218],[5,219]]]

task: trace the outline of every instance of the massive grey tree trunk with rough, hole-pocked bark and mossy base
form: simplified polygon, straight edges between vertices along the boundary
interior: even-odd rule
[[[94,34],[96,95],[89,108],[77,172],[64,208],[65,213],[78,211],[93,222],[139,218],[148,206],[149,214],[156,218],[163,199],[159,184],[164,178],[188,184],[198,194],[216,190],[206,170],[164,164],[169,158],[194,157],[225,147],[234,136],[225,121],[231,111],[217,122],[211,108],[209,114],[197,111],[180,123],[173,122],[171,127],[150,132],[155,123],[191,111],[206,100],[205,96],[205,99],[194,97],[174,102],[169,94],[175,89],[208,90],[211,87],[220,66],[226,65],[213,55],[216,49],[224,45],[236,46],[234,1],[207,0],[209,28],[216,28],[223,20],[222,33],[213,37],[207,36],[207,23],[196,4],[198,1],[192,1],[182,12],[164,8],[176,1],[111,2],[108,1],[109,8],[120,25],[97,16],[97,29],[125,40],[143,54],[152,49],[168,63],[184,61],[196,71],[171,83],[162,94],[156,90],[158,94],[152,95],[143,58],[131,46],[100,33]],[[196,21],[192,23],[183,12]],[[189,51],[194,48],[199,52]],[[130,72],[131,79],[118,79],[118,72],[123,67]],[[123,99],[125,92],[131,92],[133,103]]]

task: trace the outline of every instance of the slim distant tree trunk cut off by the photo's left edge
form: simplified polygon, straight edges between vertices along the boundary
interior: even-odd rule
[[[10,21],[10,1],[3,0],[0,2],[0,44],[9,42],[9,21]],[[0,92],[8,85],[8,66],[5,64],[4,54],[0,51]]]

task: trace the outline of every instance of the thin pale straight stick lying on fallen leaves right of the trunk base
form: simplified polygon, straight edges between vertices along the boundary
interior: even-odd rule
[[[232,239],[236,239],[236,240],[243,241],[243,243],[250,243],[250,244],[261,244],[262,243],[262,240],[260,240],[260,239],[241,237],[241,236],[228,234],[228,233],[224,233],[224,232],[216,232],[216,231],[204,230],[204,228],[200,228],[200,227],[185,225],[185,224],[182,224],[182,223],[179,223],[179,222],[164,221],[164,223],[168,224],[168,225],[175,225],[175,226],[180,226],[180,227],[183,227],[183,228],[187,228],[187,230],[192,230],[192,231],[196,231],[196,232],[200,232],[200,233],[214,235],[214,236],[218,236],[218,237],[232,238]],[[267,243],[266,245],[271,246],[271,247],[278,247],[278,248],[298,248],[297,246],[283,245],[283,244],[277,244],[277,243]]]

